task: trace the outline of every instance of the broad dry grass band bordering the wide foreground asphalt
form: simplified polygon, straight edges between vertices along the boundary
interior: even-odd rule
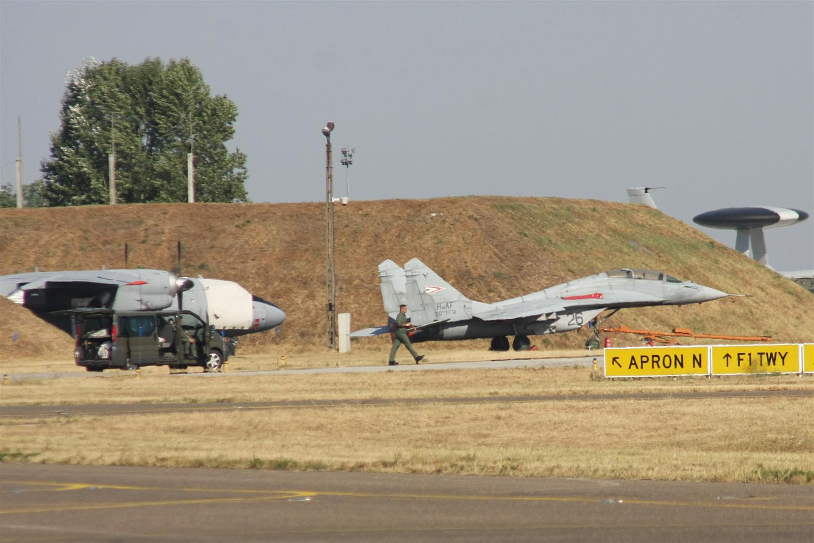
[[[814,476],[810,409],[608,398],[75,417],[4,424],[0,449],[48,463],[799,483]]]

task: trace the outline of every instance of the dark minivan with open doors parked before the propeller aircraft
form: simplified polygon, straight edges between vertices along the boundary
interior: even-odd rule
[[[73,309],[77,366],[88,371],[139,366],[220,371],[228,356],[223,338],[190,311],[115,312]]]

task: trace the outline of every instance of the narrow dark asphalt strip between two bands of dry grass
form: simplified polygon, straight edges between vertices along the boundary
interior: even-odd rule
[[[615,401],[615,400],[664,400],[683,398],[700,400],[703,398],[764,398],[764,397],[810,397],[814,389],[807,390],[741,390],[711,392],[631,392],[624,394],[571,394],[539,396],[472,396],[447,398],[379,398],[365,400],[292,400],[292,401],[238,401],[233,403],[204,404],[85,404],[85,405],[2,405],[0,421],[10,423],[13,419],[115,415],[140,415],[161,413],[195,413],[208,411],[240,411],[263,409],[302,409],[339,406],[375,406],[394,404],[439,405],[439,404],[483,404],[517,403],[529,401]]]

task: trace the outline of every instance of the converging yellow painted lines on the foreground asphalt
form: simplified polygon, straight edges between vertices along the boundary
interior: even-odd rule
[[[116,490],[137,490],[137,491],[164,491],[164,492],[195,492],[195,493],[237,493],[237,494],[272,494],[262,497],[223,497],[223,498],[200,498],[194,500],[162,500],[162,501],[129,501],[111,503],[107,502],[98,505],[87,506],[49,506],[32,507],[21,510],[0,510],[0,515],[16,513],[38,513],[56,510],[90,510],[90,509],[115,509],[123,507],[145,507],[164,505],[189,505],[202,503],[223,503],[230,501],[264,501],[285,499],[292,497],[372,497],[372,498],[405,498],[405,499],[425,499],[425,500],[466,500],[466,501],[554,501],[554,502],[580,502],[596,503],[601,501],[600,497],[568,497],[568,496],[472,496],[455,494],[411,494],[411,493],[349,493],[349,492],[322,492],[313,490],[254,490],[241,488],[161,488],[161,487],[135,487],[111,484],[85,484],[85,483],[58,483],[42,481],[5,481],[4,484],[37,484],[43,486],[61,487],[55,491],[81,490],[84,488],[110,488]],[[734,498],[729,502],[716,501],[671,501],[671,500],[637,500],[632,498],[620,498],[623,503],[637,506],[679,506],[679,507],[714,507],[724,509],[751,509],[751,510],[802,510],[814,511],[812,506],[777,506],[771,504],[755,503],[755,501],[769,501],[773,497],[746,497]],[[751,503],[738,503],[738,501],[751,501]]]

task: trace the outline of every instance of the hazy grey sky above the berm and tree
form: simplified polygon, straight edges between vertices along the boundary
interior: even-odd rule
[[[812,2],[2,2],[2,183],[40,177],[82,59],[189,57],[237,104],[255,202],[325,197],[325,138],[357,147],[352,199],[627,201],[814,212]],[[734,232],[701,228],[734,244]],[[814,218],[766,231],[814,268]]]

